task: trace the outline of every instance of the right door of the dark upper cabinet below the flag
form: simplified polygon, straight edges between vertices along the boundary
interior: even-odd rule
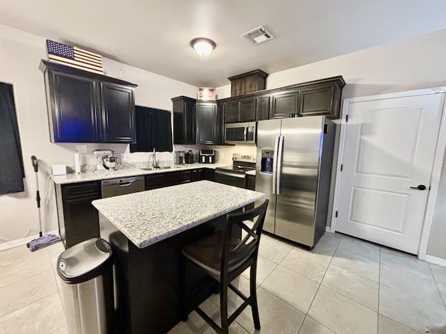
[[[134,88],[101,83],[102,141],[134,143]]]

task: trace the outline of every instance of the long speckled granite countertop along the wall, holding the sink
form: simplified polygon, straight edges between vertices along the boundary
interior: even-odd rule
[[[69,173],[67,175],[52,175],[52,180],[54,181],[55,184],[69,184],[69,183],[114,179],[116,177],[130,177],[130,176],[148,175],[155,173],[169,173],[176,170],[188,170],[196,168],[215,169],[217,167],[228,166],[229,164],[231,163],[222,162],[220,164],[185,164],[181,166],[176,165],[174,168],[158,169],[158,170],[143,170],[141,168],[122,168],[114,170],[112,172],[101,172],[101,173],[86,172],[82,174]],[[254,175],[255,175],[255,170],[254,170]]]

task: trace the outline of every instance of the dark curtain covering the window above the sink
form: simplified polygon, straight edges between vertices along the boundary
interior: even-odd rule
[[[172,152],[171,113],[166,110],[134,106],[137,143],[130,152]]]

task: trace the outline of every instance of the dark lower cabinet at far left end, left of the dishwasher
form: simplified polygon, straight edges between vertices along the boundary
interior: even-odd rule
[[[65,248],[100,236],[98,210],[91,204],[99,198],[100,182],[56,184],[59,233]]]

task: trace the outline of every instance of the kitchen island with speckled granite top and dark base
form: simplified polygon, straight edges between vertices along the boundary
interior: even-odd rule
[[[167,333],[182,318],[185,274],[181,248],[223,230],[225,215],[265,194],[210,181],[93,200],[118,231],[102,235],[116,255],[118,333]],[[187,268],[190,289],[202,299],[213,287]]]

